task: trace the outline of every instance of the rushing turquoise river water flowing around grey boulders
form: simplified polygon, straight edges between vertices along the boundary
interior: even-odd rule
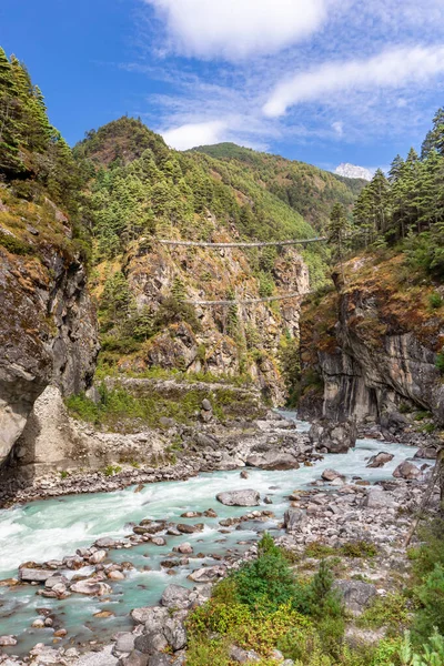
[[[310,424],[297,421],[295,413],[283,413],[295,421],[301,432],[310,427]],[[367,458],[379,451],[390,451],[394,454],[393,461],[383,468],[367,468]],[[68,629],[67,642],[77,644],[94,640],[98,636],[105,639],[115,630],[131,627],[129,612],[158,603],[163,588],[170,583],[192,586],[186,576],[202,563],[216,564],[213,554],[223,555],[230,551],[241,555],[258,538],[258,529],[280,534],[278,524],[289,507],[289,494],[297,488],[310,487],[326,467],[333,467],[349,478],[357,475],[373,483],[391,478],[395,467],[414,453],[414,448],[401,444],[360,440],[347,454],[329,454],[313,466],[300,470],[266,472],[249,468],[248,480],[240,478],[239,471],[215,472],[183,482],[145,485],[138,493],[130,487],[112,493],[62,496],[0,511],[0,579],[17,576],[18,566],[23,562],[60,559],[73,555],[81,546],[92,545],[101,536],[122,537],[131,533],[129,523],[139,523],[143,518],[193,524],[200,519],[179,521],[180,515],[185,511],[208,508],[214,508],[219,516],[203,518],[205,528],[201,533],[168,536],[167,546],[148,543],[131,549],[110,551],[111,561],[131,562],[135,568],[124,582],[112,583],[112,595],[105,599],[72,595],[64,601],[53,601],[36,595],[36,587],[28,585],[0,587],[0,635],[17,636],[18,645],[10,650],[13,654],[24,654],[39,642],[52,644],[51,629],[31,628],[33,619],[39,617],[37,609],[51,608]],[[275,513],[275,519],[254,525],[243,524],[243,529],[232,528],[230,534],[220,533],[219,519],[240,516],[249,509],[223,506],[215,495],[221,491],[250,487],[260,491],[262,497],[272,497],[273,505],[266,508]],[[206,557],[198,559],[192,556],[189,566],[181,567],[175,576],[170,576],[162,571],[160,562],[165,559],[174,545],[184,541],[194,546],[194,553],[202,553]],[[79,572],[68,572],[67,575],[74,573]],[[101,610],[110,610],[114,616],[94,617]]]

